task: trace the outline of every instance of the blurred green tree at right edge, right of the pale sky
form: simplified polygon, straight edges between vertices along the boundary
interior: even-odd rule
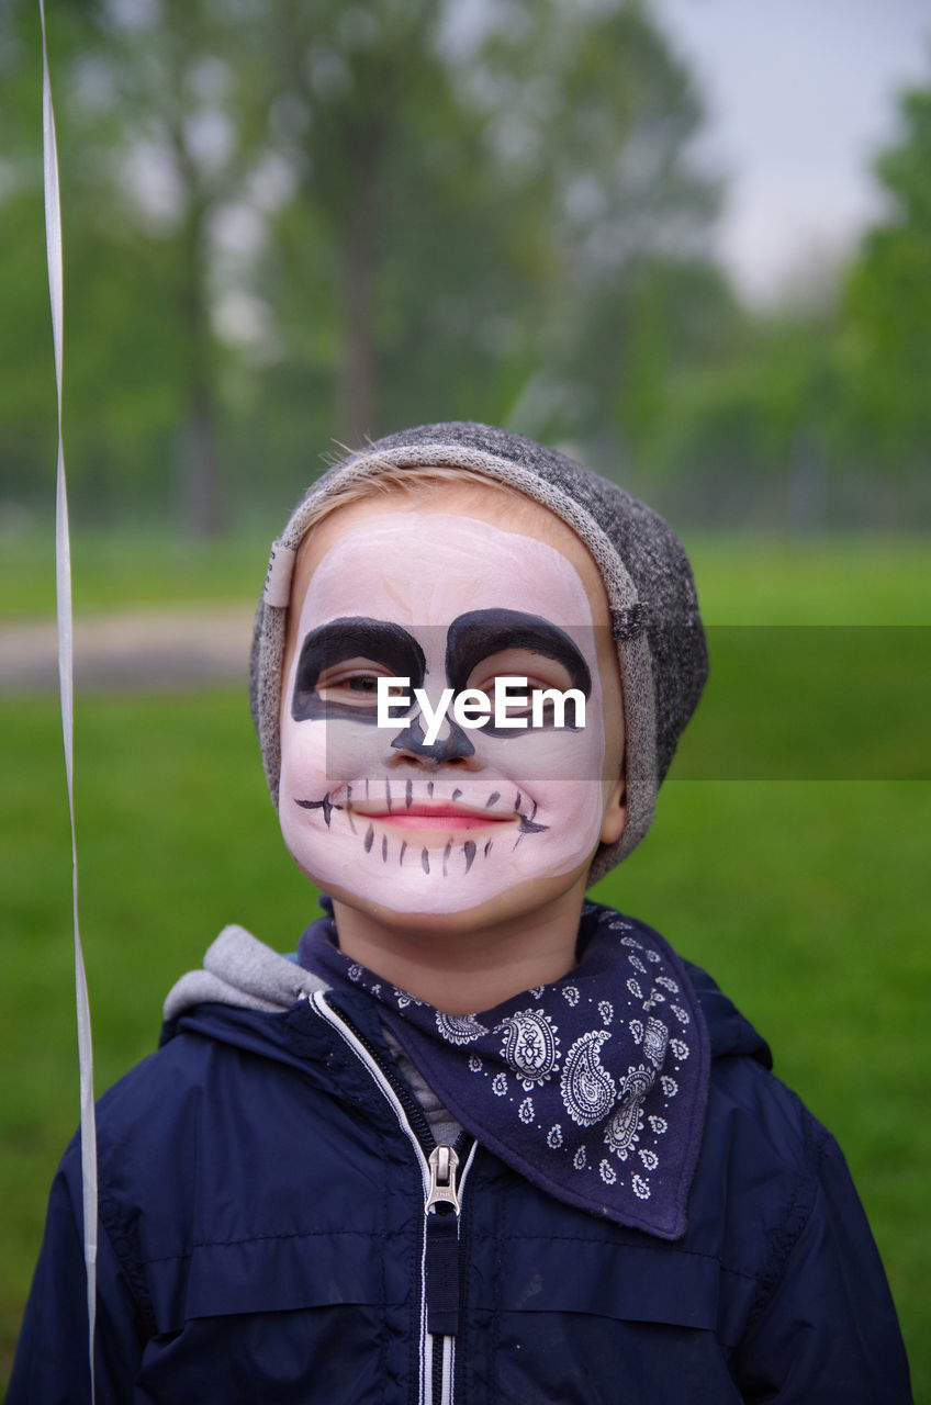
[[[931,86],[876,163],[886,218],[852,266],[807,270],[738,319],[730,354],[665,382],[653,461],[705,520],[927,521],[931,499]],[[890,472],[894,471],[894,479]]]

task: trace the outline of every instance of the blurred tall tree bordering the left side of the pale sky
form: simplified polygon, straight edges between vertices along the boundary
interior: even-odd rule
[[[719,188],[692,163],[700,101],[646,4],[501,13],[473,84],[543,271],[519,417],[638,448],[696,306],[712,327],[731,306],[706,257]]]

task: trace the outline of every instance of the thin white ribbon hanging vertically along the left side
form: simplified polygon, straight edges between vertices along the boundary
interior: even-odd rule
[[[55,563],[58,599],[58,680],[62,698],[62,739],[65,776],[72,823],[72,910],[75,922],[75,1000],[77,1007],[77,1064],[80,1069],[80,1154],[84,1213],[84,1267],[87,1270],[87,1354],[90,1364],[90,1399],[94,1402],[94,1322],[97,1316],[97,1128],[94,1118],[94,1054],[90,1037],[90,1003],[84,953],[77,924],[77,842],[75,836],[75,667],[72,614],[72,551],[68,530],[68,485],[65,482],[65,445],[62,438],[62,362],[63,362],[63,271],[62,205],[58,178],[58,143],[52,80],[45,38],[45,0],[39,0],[42,21],[42,164],[45,169],[45,246],[48,287],[52,302],[52,341],[55,346],[55,385],[58,391],[58,486],[55,497]]]

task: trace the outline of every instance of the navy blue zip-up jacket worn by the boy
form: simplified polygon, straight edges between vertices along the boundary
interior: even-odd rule
[[[675,1242],[468,1141],[461,1213],[425,1215],[432,1135],[366,998],[167,1026],[98,1107],[98,1405],[906,1405],[844,1159],[692,976],[713,1071]],[[10,1405],[89,1399],[80,1222],[72,1145]]]

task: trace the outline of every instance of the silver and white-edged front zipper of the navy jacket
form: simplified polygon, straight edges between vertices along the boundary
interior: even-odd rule
[[[478,1144],[463,1132],[454,1146],[437,1145],[423,1109],[411,1092],[384,1068],[375,1050],[349,1020],[315,991],[311,1005],[330,1024],[366,1066],[390,1103],[405,1134],[423,1182],[423,1232],[420,1236],[420,1405],[453,1405],[456,1325],[458,1318],[458,1228],[461,1193]],[[464,1156],[464,1162],[463,1162]],[[458,1173],[460,1165],[463,1166]]]

